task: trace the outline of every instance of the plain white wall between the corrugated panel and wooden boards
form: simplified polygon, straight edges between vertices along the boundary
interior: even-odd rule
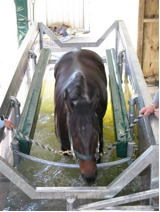
[[[133,46],[137,46],[139,0],[90,0],[90,29],[103,33],[115,20],[124,20]]]

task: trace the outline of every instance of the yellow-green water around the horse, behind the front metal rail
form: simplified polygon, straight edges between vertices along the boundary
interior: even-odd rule
[[[41,95],[41,107],[38,115],[38,121],[36,124],[34,140],[40,142],[41,144],[48,145],[53,149],[61,149],[61,145],[57,140],[54,133],[54,73],[53,71],[46,71],[42,95]],[[104,150],[107,149],[107,146],[115,142],[115,132],[114,132],[114,123],[112,116],[112,106],[110,102],[109,94],[109,103],[108,109],[104,118]],[[61,156],[55,153],[45,151],[35,145],[32,146],[31,155],[43,158],[50,161],[58,161],[64,163],[74,163],[72,157]],[[114,161],[116,160],[115,150],[113,150],[110,157],[105,155],[102,158],[102,162]],[[27,163],[27,168],[25,169],[26,178],[30,179],[33,182],[34,186],[87,186],[87,183],[82,179],[80,175],[80,170],[78,169],[64,169],[64,168],[54,168],[48,165],[34,164],[34,162],[24,161]],[[23,172],[24,164],[18,166],[19,171]],[[42,168],[43,167],[43,168]],[[33,170],[32,170],[33,168]],[[111,182],[115,174],[108,177],[109,169],[98,170],[98,176],[95,183],[92,186],[105,186]],[[119,168],[115,168],[118,172]],[[32,171],[29,171],[32,170]],[[107,171],[106,171],[107,170]],[[120,171],[121,172],[121,168]],[[33,173],[32,175],[30,173]],[[115,173],[115,172],[113,172]],[[65,176],[65,178],[64,178]],[[103,177],[102,177],[103,176]],[[104,177],[105,176],[105,177]]]

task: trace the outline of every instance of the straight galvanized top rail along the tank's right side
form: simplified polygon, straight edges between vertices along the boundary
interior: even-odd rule
[[[126,51],[126,62],[127,68],[129,68],[129,72],[132,77],[132,83],[134,85],[135,93],[138,94],[138,109],[148,106],[152,102],[152,98],[150,92],[147,88],[146,82],[144,80],[144,76],[138,61],[138,57],[133,49],[132,42],[130,40],[130,36],[128,34],[128,30],[124,21],[119,21],[119,40],[123,45],[123,49]],[[121,44],[120,44],[121,45]],[[117,44],[118,46],[118,44]],[[147,147],[150,145],[159,143],[159,120],[155,117],[146,117],[143,119],[144,129],[147,141]]]

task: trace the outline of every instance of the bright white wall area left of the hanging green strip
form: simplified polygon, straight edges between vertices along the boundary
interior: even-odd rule
[[[1,1],[0,6],[0,105],[4,92],[14,74],[14,63],[18,50],[16,12],[13,0]]]

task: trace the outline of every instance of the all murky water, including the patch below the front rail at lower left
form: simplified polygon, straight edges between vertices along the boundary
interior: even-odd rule
[[[131,95],[127,83],[123,89],[125,91],[125,99],[127,100]],[[51,148],[60,150],[60,143],[58,142],[54,133],[53,92],[54,72],[47,70],[44,77],[41,105],[35,128],[34,140],[40,142],[41,144],[48,145]],[[107,149],[109,144],[115,142],[110,93],[108,100],[108,108],[104,118],[104,151]],[[31,155],[50,161],[74,163],[72,157],[57,155],[35,145],[32,145]],[[115,161],[117,159],[116,151],[113,149],[110,154],[106,154],[102,157],[102,162]],[[107,186],[126,167],[127,164],[122,164],[114,167],[98,169],[98,176],[92,186]],[[35,187],[88,186],[88,184],[82,179],[79,169],[54,168],[49,165],[37,164],[25,159],[21,160],[17,169]],[[132,191],[137,189],[137,180],[140,184],[141,179],[137,178],[136,181],[133,182],[132,186],[129,186],[130,189],[132,188]],[[10,187],[5,210],[66,210],[66,206],[65,201],[62,200],[31,200],[16,186],[12,185]]]

